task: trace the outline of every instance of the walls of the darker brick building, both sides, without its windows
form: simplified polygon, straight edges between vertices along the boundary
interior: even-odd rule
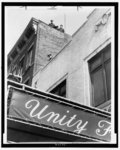
[[[25,34],[26,31],[29,30],[30,26],[34,29],[34,35],[32,35],[30,39],[27,39]],[[18,45],[22,39],[24,39],[26,43],[24,47],[19,50]],[[34,74],[50,61],[47,55],[51,54],[52,58],[55,57],[55,55],[61,50],[61,48],[70,40],[70,35],[62,33],[54,28],[51,28],[44,22],[32,18],[28,26],[14,45],[13,49],[8,54],[8,60],[10,60],[11,54],[17,49],[18,54],[14,59],[12,59],[12,63],[8,67],[8,73],[9,70],[11,70],[11,66],[19,66],[20,59],[25,56],[22,83],[25,83],[28,79],[30,79],[29,85],[31,85]],[[26,70],[25,63],[28,53],[27,50],[33,43],[33,41],[34,48],[32,50],[32,65]]]

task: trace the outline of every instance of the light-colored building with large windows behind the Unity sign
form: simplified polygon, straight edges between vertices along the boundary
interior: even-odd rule
[[[32,86],[110,111],[111,10],[95,9],[72,40],[34,74]]]

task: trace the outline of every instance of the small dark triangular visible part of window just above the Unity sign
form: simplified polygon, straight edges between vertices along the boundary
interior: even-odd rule
[[[50,93],[66,97],[66,80],[56,86]]]

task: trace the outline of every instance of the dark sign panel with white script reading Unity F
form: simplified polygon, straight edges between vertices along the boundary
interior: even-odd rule
[[[111,120],[102,111],[72,105],[12,87],[9,116],[102,141],[111,139]]]

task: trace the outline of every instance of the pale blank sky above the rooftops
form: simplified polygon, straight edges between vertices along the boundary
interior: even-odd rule
[[[54,20],[54,24],[63,24],[65,32],[72,35],[86,21],[86,17],[94,7],[47,7],[7,6],[5,7],[5,52],[8,54],[26,28],[32,17],[47,24]]]

